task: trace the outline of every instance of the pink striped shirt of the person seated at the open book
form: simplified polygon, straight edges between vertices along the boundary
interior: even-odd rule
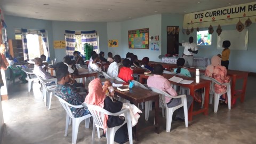
[[[168,79],[164,78],[161,75],[153,75],[148,77],[147,80],[148,87],[154,87],[158,90],[169,93],[173,97],[177,96],[177,92],[172,88]],[[171,98],[165,97],[166,103],[170,102]]]

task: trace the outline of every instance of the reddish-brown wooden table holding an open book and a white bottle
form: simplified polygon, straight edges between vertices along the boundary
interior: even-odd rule
[[[163,76],[166,79],[170,79],[171,77],[173,77],[174,75],[171,74],[163,74]],[[208,115],[208,109],[209,109],[209,92],[210,92],[210,84],[211,81],[205,80],[205,79],[200,79],[199,83],[195,82],[195,78],[191,78],[191,77],[186,77],[186,76],[178,76],[175,75],[176,77],[181,77],[183,79],[187,79],[187,80],[193,80],[194,82],[191,84],[180,84],[180,83],[175,83],[172,81],[169,81],[171,84],[174,85],[179,85],[182,87],[188,87],[190,89],[190,95],[194,97],[195,95],[195,90],[197,89],[202,89],[205,88],[205,101],[204,101],[204,108],[199,109],[197,111],[193,111],[193,107],[194,107],[194,101],[191,103],[191,106],[188,110],[188,121],[192,121],[192,116],[200,114],[200,113],[204,113],[204,115]],[[140,74],[140,83],[145,83],[145,79],[147,79],[149,76],[145,75],[145,74]]]

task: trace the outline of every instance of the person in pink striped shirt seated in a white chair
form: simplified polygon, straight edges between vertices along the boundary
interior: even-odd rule
[[[164,68],[162,65],[157,64],[154,66],[154,75],[153,76],[149,76],[148,80],[147,80],[147,85],[148,87],[154,87],[158,90],[162,90],[164,92],[169,93],[170,95],[172,95],[172,97],[177,96],[177,92],[172,88],[170,82],[168,81],[168,79],[164,78],[163,75],[164,72]],[[165,97],[165,102],[167,104],[167,107],[171,108],[171,107],[175,107],[181,104],[181,98],[178,99],[171,99],[169,97]],[[187,106],[188,109],[191,105],[191,103],[193,102],[193,97],[191,97],[190,95],[187,95]],[[178,113],[175,117],[175,120],[180,120],[180,121],[184,121],[184,110],[183,107],[179,108]]]

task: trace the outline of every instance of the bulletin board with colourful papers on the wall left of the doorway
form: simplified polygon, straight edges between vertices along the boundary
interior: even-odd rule
[[[129,49],[149,49],[149,29],[128,30]]]

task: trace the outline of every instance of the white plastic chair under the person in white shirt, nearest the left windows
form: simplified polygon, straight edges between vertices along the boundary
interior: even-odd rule
[[[55,87],[57,84],[57,78],[51,79],[43,79],[41,76],[37,76],[39,79],[41,86],[43,87],[42,91],[42,99],[45,98],[45,106],[48,106],[47,109],[51,109],[51,101],[52,101],[52,94],[55,92]],[[51,84],[46,86],[46,84],[50,84],[51,82],[55,82],[55,84]]]

